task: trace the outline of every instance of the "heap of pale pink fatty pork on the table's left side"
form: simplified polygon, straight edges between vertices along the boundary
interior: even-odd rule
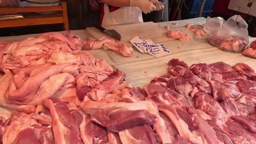
[[[80,87],[92,89],[91,95],[94,96],[91,97],[95,99],[96,92],[106,89],[108,92],[97,96],[103,98],[113,90],[114,87],[108,88],[115,80],[103,83],[108,85],[105,88],[101,88],[100,84],[113,74],[113,69],[103,59],[80,51],[85,45],[86,49],[96,49],[94,45],[100,43],[92,38],[88,40],[71,33],[52,32],[37,38],[4,43],[0,68],[6,75],[1,77],[6,88],[2,87],[4,100],[1,105],[30,113],[34,110],[34,106],[30,105],[42,104],[46,98],[76,99],[76,89]],[[108,41],[113,42],[111,39],[105,42]]]

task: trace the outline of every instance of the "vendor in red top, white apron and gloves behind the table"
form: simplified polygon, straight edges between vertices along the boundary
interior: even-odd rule
[[[100,26],[143,22],[144,14],[164,8],[158,0],[90,0],[102,2]],[[90,2],[93,3],[93,2]]]

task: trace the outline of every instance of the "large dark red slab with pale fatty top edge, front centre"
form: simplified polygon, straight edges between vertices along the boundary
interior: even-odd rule
[[[121,131],[140,124],[153,124],[158,119],[158,109],[150,101],[137,103],[100,103],[85,101],[83,111],[94,121],[111,131]]]

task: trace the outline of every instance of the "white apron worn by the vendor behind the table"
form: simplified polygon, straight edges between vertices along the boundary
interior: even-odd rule
[[[142,11],[138,7],[122,7],[109,12],[108,4],[104,4],[102,26],[123,25],[143,22]]]

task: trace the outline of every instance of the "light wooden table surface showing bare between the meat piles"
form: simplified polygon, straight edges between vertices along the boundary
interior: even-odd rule
[[[185,29],[187,23],[199,25],[205,21],[205,18],[199,17],[195,19],[161,22],[157,24],[160,27],[171,25],[172,29]],[[172,25],[173,22],[177,22],[178,25]],[[106,59],[112,67],[124,71],[126,73],[125,80],[131,83],[134,87],[143,87],[149,83],[150,80],[154,79],[155,76],[167,74],[167,63],[172,58],[179,58],[189,65],[194,63],[214,63],[219,61],[234,65],[238,62],[244,62],[256,70],[256,59],[243,56],[241,53],[224,52],[217,47],[208,44],[205,39],[193,37],[193,33],[191,32],[187,33],[191,35],[191,40],[187,43],[173,39],[162,43],[171,51],[171,54],[160,58],[139,53],[135,49],[132,57],[124,57],[119,53],[109,50],[90,50],[90,52],[96,58]],[[74,31],[74,34],[80,35],[80,37],[84,39],[94,35],[89,34],[86,30],[77,30]],[[38,34],[0,37],[0,40],[21,40],[27,37],[36,37],[36,35]],[[250,42],[253,40],[256,39],[249,38]]]

